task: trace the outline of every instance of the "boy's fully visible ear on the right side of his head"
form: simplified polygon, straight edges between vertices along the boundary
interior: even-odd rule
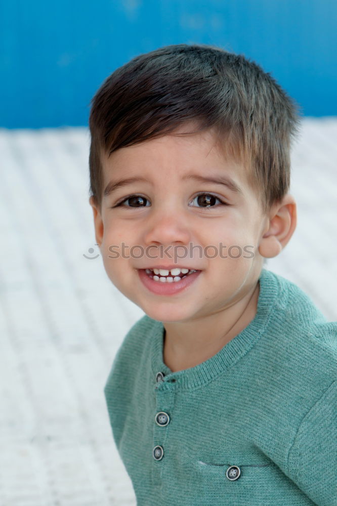
[[[260,239],[262,257],[276,257],[289,242],[297,224],[296,201],[288,193],[282,201],[271,207],[267,225]]]

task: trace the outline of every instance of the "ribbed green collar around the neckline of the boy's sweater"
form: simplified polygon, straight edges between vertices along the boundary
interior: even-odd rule
[[[164,374],[163,388],[193,389],[213,381],[217,376],[234,365],[241,357],[255,346],[268,326],[275,302],[280,293],[278,276],[271,271],[262,269],[260,278],[260,293],[255,318],[227,343],[216,355],[194,367],[172,372],[163,362],[164,326],[154,320],[150,341],[151,365],[153,377],[158,372]],[[172,385],[171,385],[172,383]],[[165,384],[170,384],[165,385]]]

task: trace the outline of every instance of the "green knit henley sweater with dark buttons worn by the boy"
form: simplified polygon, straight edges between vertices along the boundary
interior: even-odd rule
[[[337,322],[263,269],[254,320],[212,358],[172,372],[163,330],[131,328],[104,390],[138,506],[336,506]]]

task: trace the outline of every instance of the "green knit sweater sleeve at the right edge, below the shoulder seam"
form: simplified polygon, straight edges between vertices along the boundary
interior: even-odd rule
[[[289,451],[288,476],[318,506],[337,506],[337,381],[302,420]]]

